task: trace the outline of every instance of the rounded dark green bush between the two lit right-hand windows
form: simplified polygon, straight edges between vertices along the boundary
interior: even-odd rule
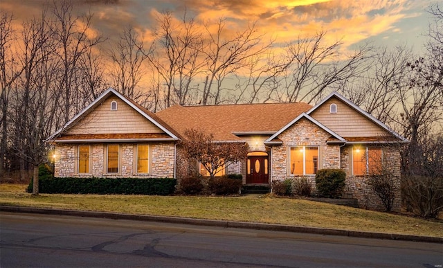
[[[320,196],[339,198],[345,189],[346,173],[340,169],[326,168],[318,170],[316,187]]]

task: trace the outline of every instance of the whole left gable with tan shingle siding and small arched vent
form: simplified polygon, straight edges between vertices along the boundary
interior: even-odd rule
[[[113,110],[114,107],[115,110]],[[172,128],[163,123],[155,114],[136,105],[134,101],[118,91],[108,89],[46,141],[73,142],[80,139],[104,141],[107,140],[106,135],[109,136],[109,134],[114,135],[112,140],[118,137],[127,141],[130,139],[149,140],[151,134],[161,135],[161,139],[179,139]],[[138,134],[138,137],[134,134]],[[134,137],[130,137],[131,135]],[[152,138],[159,139],[154,136]]]

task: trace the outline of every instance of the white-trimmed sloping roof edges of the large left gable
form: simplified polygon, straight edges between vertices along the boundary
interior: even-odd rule
[[[141,105],[138,105],[136,102],[134,102],[134,100],[130,100],[129,98],[126,98],[125,96],[123,96],[121,93],[119,93],[115,89],[109,88],[105,92],[103,92],[100,96],[98,96],[98,98],[96,98],[96,100],[94,100],[87,107],[82,109],[82,111],[80,111],[80,113],[78,113],[71,120],[69,120],[63,127],[61,127],[60,129],[57,129],[57,131],[54,134],[52,134],[50,137],[48,137],[48,139],[46,139],[46,141],[51,141],[51,140],[57,139],[57,136],[60,136],[64,132],[66,132],[66,130],[68,130],[70,127],[75,125],[75,123],[77,123],[79,120],[84,118],[84,116],[87,116],[89,113],[91,113],[91,111],[93,111],[94,108],[96,108],[98,105],[100,105],[100,103],[102,103],[103,101],[107,100],[107,98],[109,98],[109,96],[111,96],[111,95],[114,95],[114,96],[120,98],[120,100],[122,100],[127,105],[132,107],[135,111],[137,111],[138,114],[141,114],[141,116],[143,116],[144,118],[149,120],[151,123],[156,125],[156,127],[159,127],[159,129],[163,130],[163,132],[165,132],[165,134],[168,134],[168,136],[170,137],[169,139],[174,139],[174,140],[179,139],[177,132],[174,132],[172,127],[170,127],[167,123],[163,122],[163,120],[158,118],[158,116],[156,116],[154,113],[145,109]]]

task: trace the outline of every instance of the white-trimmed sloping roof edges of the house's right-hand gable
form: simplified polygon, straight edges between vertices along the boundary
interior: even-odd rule
[[[330,93],[326,98],[323,98],[323,100],[318,102],[314,107],[312,107],[309,111],[307,111],[307,114],[309,115],[309,114],[313,113],[314,111],[316,111],[316,109],[318,109],[318,107],[323,105],[323,103],[327,102],[327,100],[329,100],[331,98],[334,98],[334,97],[338,98],[339,100],[344,102],[346,105],[348,105],[349,107],[351,107],[355,111],[359,112],[359,114],[361,114],[365,118],[368,118],[368,120],[372,121],[372,123],[374,123],[375,125],[381,127],[381,129],[384,129],[389,134],[392,134],[392,136],[395,136],[395,138],[399,139],[400,142],[402,142],[402,143],[407,143],[408,142],[408,140],[406,138],[404,138],[404,136],[401,136],[400,134],[398,134],[394,130],[390,129],[390,127],[388,127],[387,125],[383,124],[380,120],[378,120],[377,118],[374,118],[374,116],[368,114],[368,112],[364,111],[363,109],[361,109],[360,107],[358,107],[357,105],[352,103],[350,100],[347,100],[347,98],[341,96],[341,94],[337,93],[336,91]],[[347,139],[347,138],[345,138],[345,139]],[[382,141],[383,139],[386,139],[386,137],[378,137],[377,140],[378,141]]]

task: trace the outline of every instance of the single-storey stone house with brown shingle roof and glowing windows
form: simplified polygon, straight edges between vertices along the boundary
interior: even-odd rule
[[[397,145],[407,142],[338,93],[312,107],[306,103],[174,105],[156,114],[108,89],[57,130],[55,177],[175,177],[206,175],[183,157],[186,129],[202,129],[217,142],[248,143],[244,161],[217,175],[238,173],[245,186],[307,177],[322,168],[347,174],[345,195],[365,208],[381,208],[367,175],[389,161],[400,173]],[[399,185],[399,181],[397,181]],[[399,195],[399,193],[398,193]],[[400,198],[394,210],[399,209]]]

